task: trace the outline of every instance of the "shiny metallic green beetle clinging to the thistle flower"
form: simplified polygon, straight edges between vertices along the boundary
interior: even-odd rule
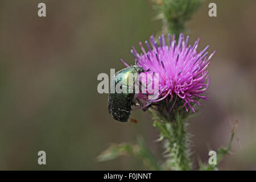
[[[149,70],[147,70],[149,71]],[[109,93],[109,101],[108,101],[108,109],[109,114],[113,116],[113,118],[120,122],[127,122],[130,114],[131,114],[131,107],[135,105],[135,80],[139,73],[146,72],[142,67],[139,67],[135,64],[132,67],[127,67],[115,73],[113,79],[114,86],[116,88],[120,86],[120,89],[127,89],[126,93]],[[129,80],[129,75],[133,74],[133,80]],[[129,93],[133,91],[133,93]]]

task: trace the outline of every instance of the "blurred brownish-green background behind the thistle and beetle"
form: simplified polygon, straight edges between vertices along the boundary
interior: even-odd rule
[[[44,2],[47,17],[39,18]],[[210,2],[217,17],[208,16]],[[208,161],[209,147],[228,143],[232,122],[240,121],[233,155],[220,169],[256,169],[256,1],[205,1],[187,23],[198,50],[216,49],[209,66],[210,100],[191,120],[193,159]],[[0,2],[0,169],[145,169],[123,156],[98,163],[111,143],[133,142],[142,135],[156,154],[158,131],[150,115],[133,112],[133,123],[115,122],[108,95],[97,92],[97,75],[133,64],[139,48],[162,22],[150,1],[1,1]],[[241,143],[241,146],[238,144]],[[38,165],[38,151],[47,165]]]

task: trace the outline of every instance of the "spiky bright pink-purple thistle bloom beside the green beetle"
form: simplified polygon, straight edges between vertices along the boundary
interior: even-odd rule
[[[158,46],[154,36],[151,36],[149,42],[152,48],[147,41],[145,42],[147,52],[141,42],[139,43],[142,49],[140,55],[134,47],[131,49],[135,60],[138,60],[139,67],[144,70],[150,69],[148,73],[159,74],[160,94],[156,100],[147,101],[146,106],[165,98],[166,100],[170,98],[171,101],[176,96],[175,101],[177,97],[180,98],[187,111],[189,107],[195,112],[192,105],[199,105],[197,102],[199,98],[208,100],[209,96],[202,96],[201,94],[208,93],[205,92],[209,85],[207,67],[215,51],[207,58],[208,52],[206,51],[209,46],[197,53],[199,39],[193,46],[188,46],[188,39],[189,36],[185,39],[184,35],[180,34],[179,40],[176,42],[175,35],[172,36],[171,40],[169,34],[168,44],[166,44],[164,35],[162,35],[159,36]],[[124,61],[123,63],[128,66]]]

